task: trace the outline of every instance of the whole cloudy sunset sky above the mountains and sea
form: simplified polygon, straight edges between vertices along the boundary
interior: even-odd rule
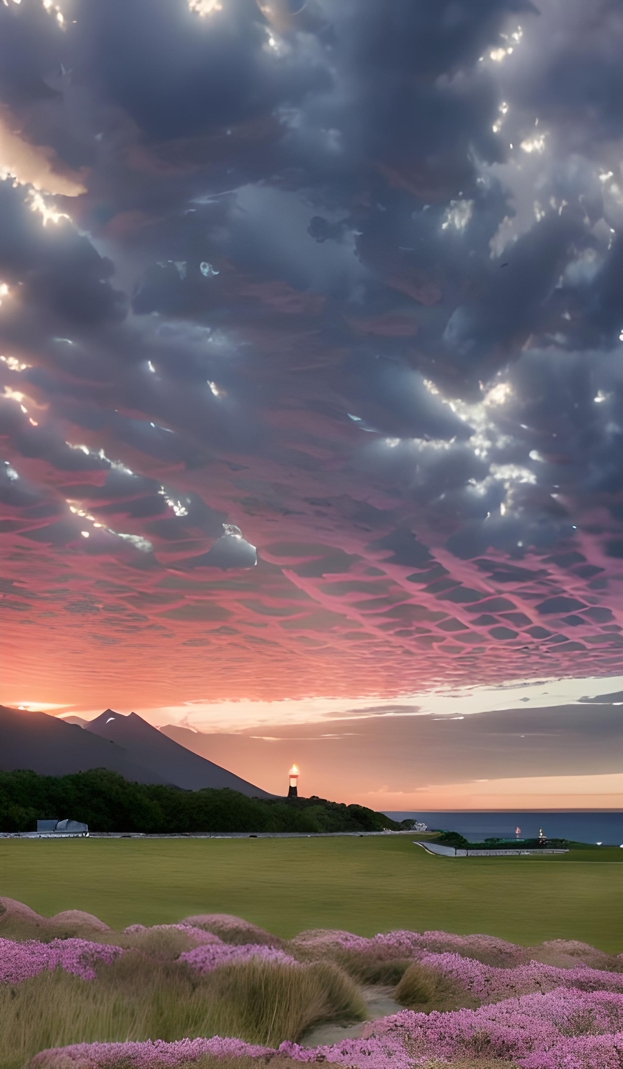
[[[2,0],[2,702],[621,804],[622,48],[618,0]]]

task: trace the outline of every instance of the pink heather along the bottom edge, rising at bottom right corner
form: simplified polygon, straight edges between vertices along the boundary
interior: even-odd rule
[[[414,1013],[405,1010],[368,1025],[369,1035],[332,1047],[285,1042],[278,1053],[298,1062],[341,1063],[353,1069],[411,1069],[430,1059],[498,1057],[525,1069],[620,1069],[623,1064],[623,995],[559,988],[547,994],[507,998],[477,1010]],[[78,1069],[174,1069],[202,1054],[276,1053],[234,1039],[167,1043],[82,1043],[44,1051],[32,1069],[74,1062]],[[63,1062],[65,1058],[65,1062]]]

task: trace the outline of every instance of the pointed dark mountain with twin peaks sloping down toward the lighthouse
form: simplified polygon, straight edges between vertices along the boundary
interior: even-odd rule
[[[275,797],[235,776],[233,772],[193,754],[136,713],[128,713],[126,716],[107,709],[100,716],[85,724],[84,731],[123,748],[128,757],[131,756],[133,761],[140,761],[141,765],[155,773],[155,783],[165,779],[168,784],[194,791],[202,787],[230,787],[249,797]]]

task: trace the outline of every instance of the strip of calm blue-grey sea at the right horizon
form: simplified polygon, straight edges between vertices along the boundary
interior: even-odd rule
[[[570,810],[555,811],[544,809],[520,810],[511,812],[389,812],[393,820],[404,820],[412,817],[423,820],[429,827],[445,828],[449,832],[460,832],[471,842],[478,842],[487,836],[515,836],[515,830],[520,827],[520,837],[529,839],[539,835],[541,828],[550,839],[574,839],[576,842],[603,842],[610,846],[623,843],[623,809],[591,810],[590,812],[572,812]]]

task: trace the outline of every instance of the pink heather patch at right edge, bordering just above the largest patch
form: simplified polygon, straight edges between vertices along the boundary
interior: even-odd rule
[[[588,965],[559,969],[531,961],[515,969],[497,969],[457,954],[424,954],[422,965],[453,979],[464,991],[481,1002],[496,1002],[510,995],[577,988],[581,991],[623,992],[623,973],[605,973]]]

